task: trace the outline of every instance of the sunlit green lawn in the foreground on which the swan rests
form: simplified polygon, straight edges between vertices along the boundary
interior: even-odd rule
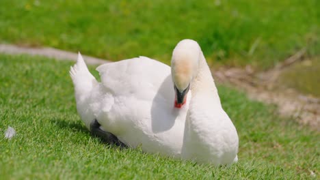
[[[77,115],[71,64],[0,55],[1,179],[309,179],[309,170],[319,177],[319,132],[222,86],[240,138],[237,164],[213,168],[104,145]],[[8,125],[12,140],[3,136]]]

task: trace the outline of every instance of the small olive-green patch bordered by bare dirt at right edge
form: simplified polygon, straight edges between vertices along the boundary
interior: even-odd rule
[[[297,89],[306,94],[320,97],[320,57],[302,61],[282,72],[279,84]]]

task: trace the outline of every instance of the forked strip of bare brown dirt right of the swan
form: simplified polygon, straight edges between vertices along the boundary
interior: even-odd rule
[[[213,76],[217,82],[244,90],[254,100],[276,104],[280,115],[291,117],[302,125],[310,125],[312,129],[320,131],[320,99],[304,95],[295,89],[278,88],[282,72],[291,65],[304,61],[305,52],[304,49],[299,50],[266,72],[254,72],[249,65],[243,69],[220,67],[219,70],[213,70]]]

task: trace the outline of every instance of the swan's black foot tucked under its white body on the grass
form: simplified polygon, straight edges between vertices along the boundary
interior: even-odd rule
[[[114,134],[111,134],[109,132],[105,132],[105,131],[101,130],[100,126],[101,125],[98,123],[98,121],[96,121],[96,119],[94,119],[94,121],[92,121],[92,123],[90,124],[90,132],[91,132],[92,136],[96,136],[98,138],[101,138],[101,140],[103,140],[103,142],[106,142],[109,145],[117,145],[119,147],[126,147],[126,145],[124,145],[124,143],[122,143],[120,140],[118,140],[118,138],[116,136],[114,136]]]

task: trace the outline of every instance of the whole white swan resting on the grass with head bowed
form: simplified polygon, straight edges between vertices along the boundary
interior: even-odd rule
[[[100,83],[79,54],[70,76],[81,119],[109,142],[148,153],[214,165],[237,162],[237,131],[198,43],[179,42],[171,63],[171,71],[148,57],[106,63],[96,69]]]

